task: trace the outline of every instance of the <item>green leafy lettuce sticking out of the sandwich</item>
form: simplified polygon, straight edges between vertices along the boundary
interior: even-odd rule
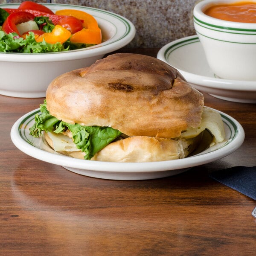
[[[107,146],[122,133],[111,127],[82,126],[58,120],[47,111],[47,102],[40,105],[41,115],[36,114],[35,123],[29,129],[30,135],[39,137],[43,131],[56,134],[70,130],[76,147],[85,153],[84,159],[90,160],[98,151]]]

